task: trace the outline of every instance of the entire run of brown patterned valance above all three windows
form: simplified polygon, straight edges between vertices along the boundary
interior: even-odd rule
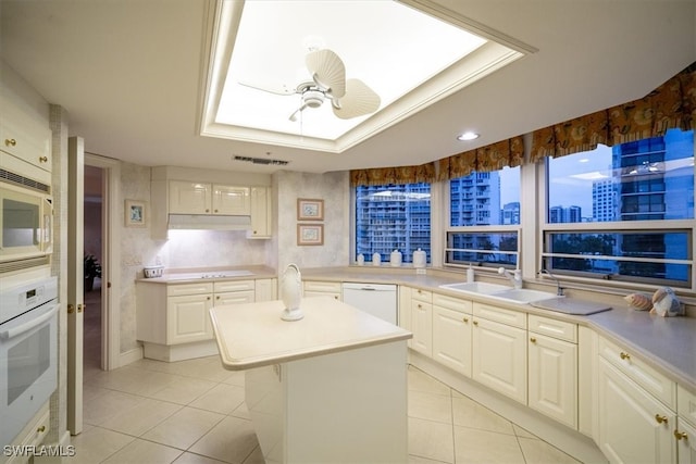
[[[664,135],[671,128],[696,129],[696,62],[642,99],[534,130],[530,162]],[[350,172],[350,185],[432,183],[492,172],[524,162],[522,136],[453,154],[419,166]]]

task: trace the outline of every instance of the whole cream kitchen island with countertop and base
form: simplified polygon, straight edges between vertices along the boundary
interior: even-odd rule
[[[408,460],[411,333],[332,298],[210,310],[223,366],[246,371],[247,407],[266,463]]]

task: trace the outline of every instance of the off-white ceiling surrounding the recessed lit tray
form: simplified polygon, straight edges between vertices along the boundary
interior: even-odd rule
[[[696,61],[694,0],[427,3],[538,51],[343,153],[199,135],[212,1],[0,0],[0,55],[67,110],[88,152],[260,173],[425,163],[641,98]],[[456,140],[465,129],[482,136]]]

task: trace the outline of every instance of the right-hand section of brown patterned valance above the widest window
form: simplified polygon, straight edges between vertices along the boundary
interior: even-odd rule
[[[642,99],[535,130],[531,162],[696,128],[696,63]]]

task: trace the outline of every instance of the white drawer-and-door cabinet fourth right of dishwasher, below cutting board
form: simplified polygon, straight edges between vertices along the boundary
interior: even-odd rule
[[[577,428],[577,326],[529,316],[527,405]]]

